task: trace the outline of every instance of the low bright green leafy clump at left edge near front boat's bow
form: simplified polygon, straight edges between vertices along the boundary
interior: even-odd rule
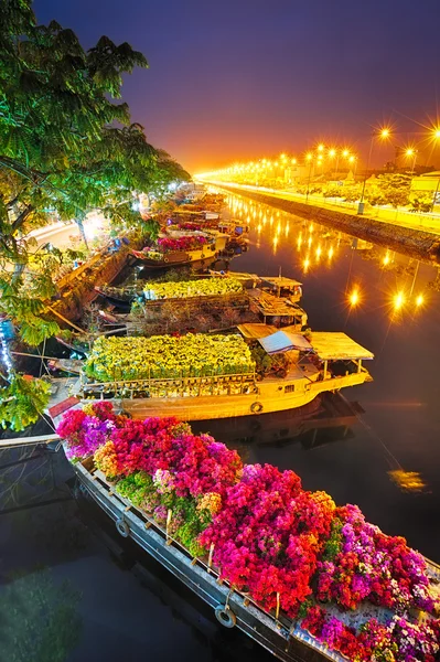
[[[51,386],[43,380],[12,373],[8,385],[0,388],[0,425],[20,433],[36,423],[47,406]]]

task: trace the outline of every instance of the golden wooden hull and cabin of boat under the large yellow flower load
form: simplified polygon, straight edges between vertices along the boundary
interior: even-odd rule
[[[254,370],[245,367],[230,374],[208,374],[206,369],[203,376],[181,372],[181,376],[163,373],[162,377],[157,376],[155,371],[160,369],[152,356],[151,364],[142,364],[139,378],[121,378],[124,367],[118,367],[119,373],[111,381],[103,382],[87,377],[83,371],[76,397],[110,398],[133,418],[167,415],[181,420],[205,420],[293,409],[308,405],[321,393],[372,381],[363,361],[372,360],[373,353],[345,333],[313,332],[307,340],[296,327],[277,330],[268,324],[243,324],[238,331],[238,338],[260,348],[267,357],[265,365],[270,363],[271,356],[282,355],[282,371],[258,371],[254,363]],[[201,346],[210,346],[212,338],[198,334]],[[148,339],[136,342],[143,341]],[[119,357],[117,342],[127,348],[127,343],[133,341],[114,338],[108,346],[111,344],[111,352]],[[105,346],[100,339],[98,355]],[[133,353],[137,351],[133,345]]]

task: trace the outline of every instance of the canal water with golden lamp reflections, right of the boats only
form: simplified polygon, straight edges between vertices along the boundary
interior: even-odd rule
[[[230,270],[273,276],[281,267],[303,282],[312,330],[345,331],[375,354],[367,365],[374,382],[343,392],[365,409],[353,438],[308,453],[258,448],[254,461],[292,468],[307,488],[358,503],[384,531],[439,562],[438,267],[245,197],[228,195],[228,203],[232,217],[251,220],[250,249]]]

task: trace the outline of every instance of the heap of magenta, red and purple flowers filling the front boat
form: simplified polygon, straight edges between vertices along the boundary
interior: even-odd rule
[[[191,554],[211,551],[223,579],[330,649],[353,662],[439,659],[439,595],[425,558],[358,508],[303,490],[293,471],[243,466],[175,418],[131,420],[96,403],[65,414],[57,433],[69,458],[94,456]]]

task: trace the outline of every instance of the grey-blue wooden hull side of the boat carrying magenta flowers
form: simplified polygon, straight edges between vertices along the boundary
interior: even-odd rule
[[[90,459],[72,465],[85,493],[115,522],[122,537],[130,537],[142,549],[179,578],[213,608],[217,620],[226,628],[237,627],[283,662],[298,662],[294,641],[333,662],[347,658],[332,651],[325,643],[302,629],[282,612],[264,610],[248,594],[219,580],[219,570],[210,558],[192,558],[189,552],[146,511],[115,492],[114,485],[96,470]],[[433,583],[440,580],[440,567],[427,559],[427,572]],[[294,647],[298,648],[298,647]]]

